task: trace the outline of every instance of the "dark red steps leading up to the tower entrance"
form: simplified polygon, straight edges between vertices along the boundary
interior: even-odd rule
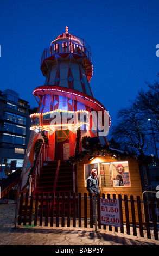
[[[59,167],[59,169],[58,169]],[[55,196],[57,192],[60,193],[60,196],[62,196],[63,192],[65,192],[65,195],[67,196],[67,193],[70,192],[73,193],[73,166],[66,164],[65,162],[61,162],[59,164],[59,161],[45,161],[43,163],[43,167],[41,170],[41,175],[39,177],[37,188],[34,191],[34,194],[36,192],[41,194],[43,193],[43,196],[45,197],[47,193],[50,195],[54,192]],[[39,211],[41,208],[41,199],[39,199]],[[51,199],[49,199],[49,214],[50,214],[50,208],[51,208]],[[46,207],[46,198],[43,199],[43,214],[45,215],[45,207]],[[54,200],[54,210],[56,213],[56,199]],[[65,203],[65,210],[67,212],[67,202]],[[71,199],[71,215],[72,215],[72,209],[73,209],[73,203]],[[62,202],[59,203],[59,212],[61,214],[62,210]]]

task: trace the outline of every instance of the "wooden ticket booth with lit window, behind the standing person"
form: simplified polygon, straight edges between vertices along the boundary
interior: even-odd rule
[[[139,174],[138,162],[136,158],[113,159],[111,156],[96,156],[92,160],[87,157],[85,160],[77,164],[77,193],[84,193],[88,191],[87,178],[90,176],[91,170],[96,169],[98,172],[98,182],[100,188],[100,197],[102,194],[110,194],[110,198],[113,198],[113,194],[122,196],[122,205],[124,210],[124,195],[128,197],[128,206],[130,209],[130,222],[131,222],[131,203],[130,196],[140,196],[142,199],[142,186],[141,178]],[[135,203],[135,212],[137,213],[137,203]],[[88,205],[89,212],[89,205]],[[125,214],[123,212],[123,218],[125,221]],[[138,222],[138,218],[136,219]]]

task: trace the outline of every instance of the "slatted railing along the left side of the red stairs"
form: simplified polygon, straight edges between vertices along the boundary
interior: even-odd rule
[[[32,175],[30,175],[30,186],[29,186],[29,193],[33,192],[34,189],[37,187],[37,182],[39,180],[41,170],[43,167],[43,162],[47,161],[47,153],[48,153],[48,145],[43,143],[41,145],[39,155],[37,156],[37,160],[33,169]]]

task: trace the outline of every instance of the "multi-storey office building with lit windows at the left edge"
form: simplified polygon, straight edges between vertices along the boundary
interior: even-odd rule
[[[30,137],[30,105],[14,90],[0,92],[0,163],[22,167]]]

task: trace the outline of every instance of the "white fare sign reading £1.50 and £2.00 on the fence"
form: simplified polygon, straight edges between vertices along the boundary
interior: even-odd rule
[[[120,227],[120,208],[118,199],[100,198],[101,225]]]

